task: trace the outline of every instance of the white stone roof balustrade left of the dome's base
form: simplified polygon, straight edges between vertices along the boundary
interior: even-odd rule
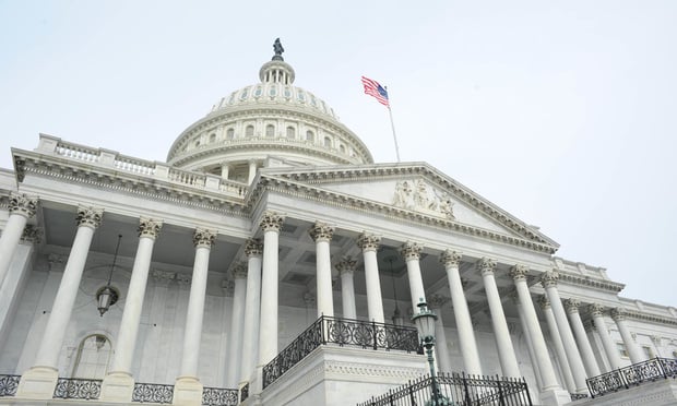
[[[177,169],[164,163],[124,156],[115,151],[68,143],[45,134],[40,134],[40,143],[36,152],[87,163],[95,167],[111,168],[118,172],[146,177],[150,180],[164,180],[176,186],[212,191],[239,199],[244,198],[249,190],[247,183],[223,179],[216,175]]]

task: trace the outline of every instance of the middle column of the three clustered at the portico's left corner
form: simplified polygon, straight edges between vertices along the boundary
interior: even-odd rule
[[[240,384],[249,382],[259,359],[259,319],[261,315],[261,255],[263,244],[250,238],[245,244],[247,255],[247,297],[245,299],[245,326],[242,327],[242,362]]]

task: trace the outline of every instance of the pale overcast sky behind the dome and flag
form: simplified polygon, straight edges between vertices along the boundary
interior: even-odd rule
[[[258,82],[282,38],[295,84],[394,162],[428,162],[677,306],[677,1],[0,0],[0,167],[44,132],[164,160]],[[404,3],[404,2],[402,2]]]

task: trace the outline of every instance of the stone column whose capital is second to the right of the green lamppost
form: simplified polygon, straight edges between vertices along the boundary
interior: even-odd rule
[[[504,377],[519,378],[522,377],[518,367],[518,358],[514,355],[508,322],[503,313],[503,304],[498,294],[498,286],[494,278],[494,270],[496,270],[496,261],[483,258],[477,261],[477,271],[482,273],[484,288],[487,292],[487,301],[489,302],[489,311],[491,312],[491,324],[494,326],[494,335],[496,336],[496,345],[498,347],[498,357],[501,362],[501,370]]]

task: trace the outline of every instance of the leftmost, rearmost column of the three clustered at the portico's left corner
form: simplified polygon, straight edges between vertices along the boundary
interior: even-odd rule
[[[226,387],[234,389],[240,381],[242,362],[242,326],[245,322],[245,300],[247,298],[247,264],[237,263],[233,268],[235,289],[233,291],[233,312],[228,332],[228,358],[226,359]]]

